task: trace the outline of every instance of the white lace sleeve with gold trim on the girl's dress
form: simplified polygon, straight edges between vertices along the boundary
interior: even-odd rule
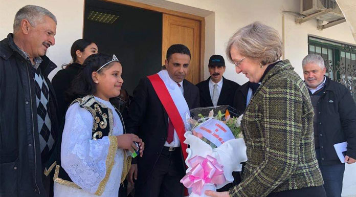
[[[61,145],[61,165],[72,181],[83,190],[101,195],[114,164],[115,136],[92,140],[93,116],[71,105],[65,115]]]

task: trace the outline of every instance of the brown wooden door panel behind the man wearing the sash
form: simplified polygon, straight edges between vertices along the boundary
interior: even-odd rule
[[[163,14],[162,65],[167,49],[174,44],[188,47],[191,53],[186,79],[194,84],[201,79],[201,22],[193,19]]]

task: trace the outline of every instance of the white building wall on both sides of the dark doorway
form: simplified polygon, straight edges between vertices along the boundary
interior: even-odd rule
[[[298,0],[135,0],[155,6],[204,16],[206,18],[206,49],[204,66],[209,57],[220,54],[226,58],[225,47],[233,33],[253,21],[261,21],[279,31],[284,39],[284,58],[289,59],[298,74],[302,74],[301,60],[307,55],[307,35],[317,35],[328,39],[355,44],[350,28],[343,23],[322,31],[317,30],[316,20],[301,25],[294,22],[294,16],[282,11],[299,12]],[[70,47],[74,40],[82,37],[83,0],[0,0],[0,38],[12,32],[16,11],[27,4],[35,4],[49,9],[57,16],[56,45],[50,47],[49,57],[59,66],[68,63]],[[51,73],[53,76],[55,72]],[[208,72],[205,69],[205,77]],[[232,63],[227,62],[225,77],[242,84],[247,78],[236,74]],[[356,164],[346,165],[343,196],[356,196]]]

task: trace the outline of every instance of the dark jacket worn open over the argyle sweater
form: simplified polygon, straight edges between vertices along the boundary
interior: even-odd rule
[[[12,34],[0,42],[0,196],[46,196],[32,65],[10,48],[9,40]],[[39,69],[50,89],[48,110],[57,134],[56,98],[48,79],[56,65],[41,58]]]

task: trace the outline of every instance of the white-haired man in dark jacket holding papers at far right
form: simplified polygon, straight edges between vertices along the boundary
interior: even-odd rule
[[[315,149],[328,197],[341,196],[345,163],[339,160],[334,144],[347,142],[345,162],[356,160],[356,105],[350,91],[325,76],[320,55],[303,59],[303,74],[314,107]]]

